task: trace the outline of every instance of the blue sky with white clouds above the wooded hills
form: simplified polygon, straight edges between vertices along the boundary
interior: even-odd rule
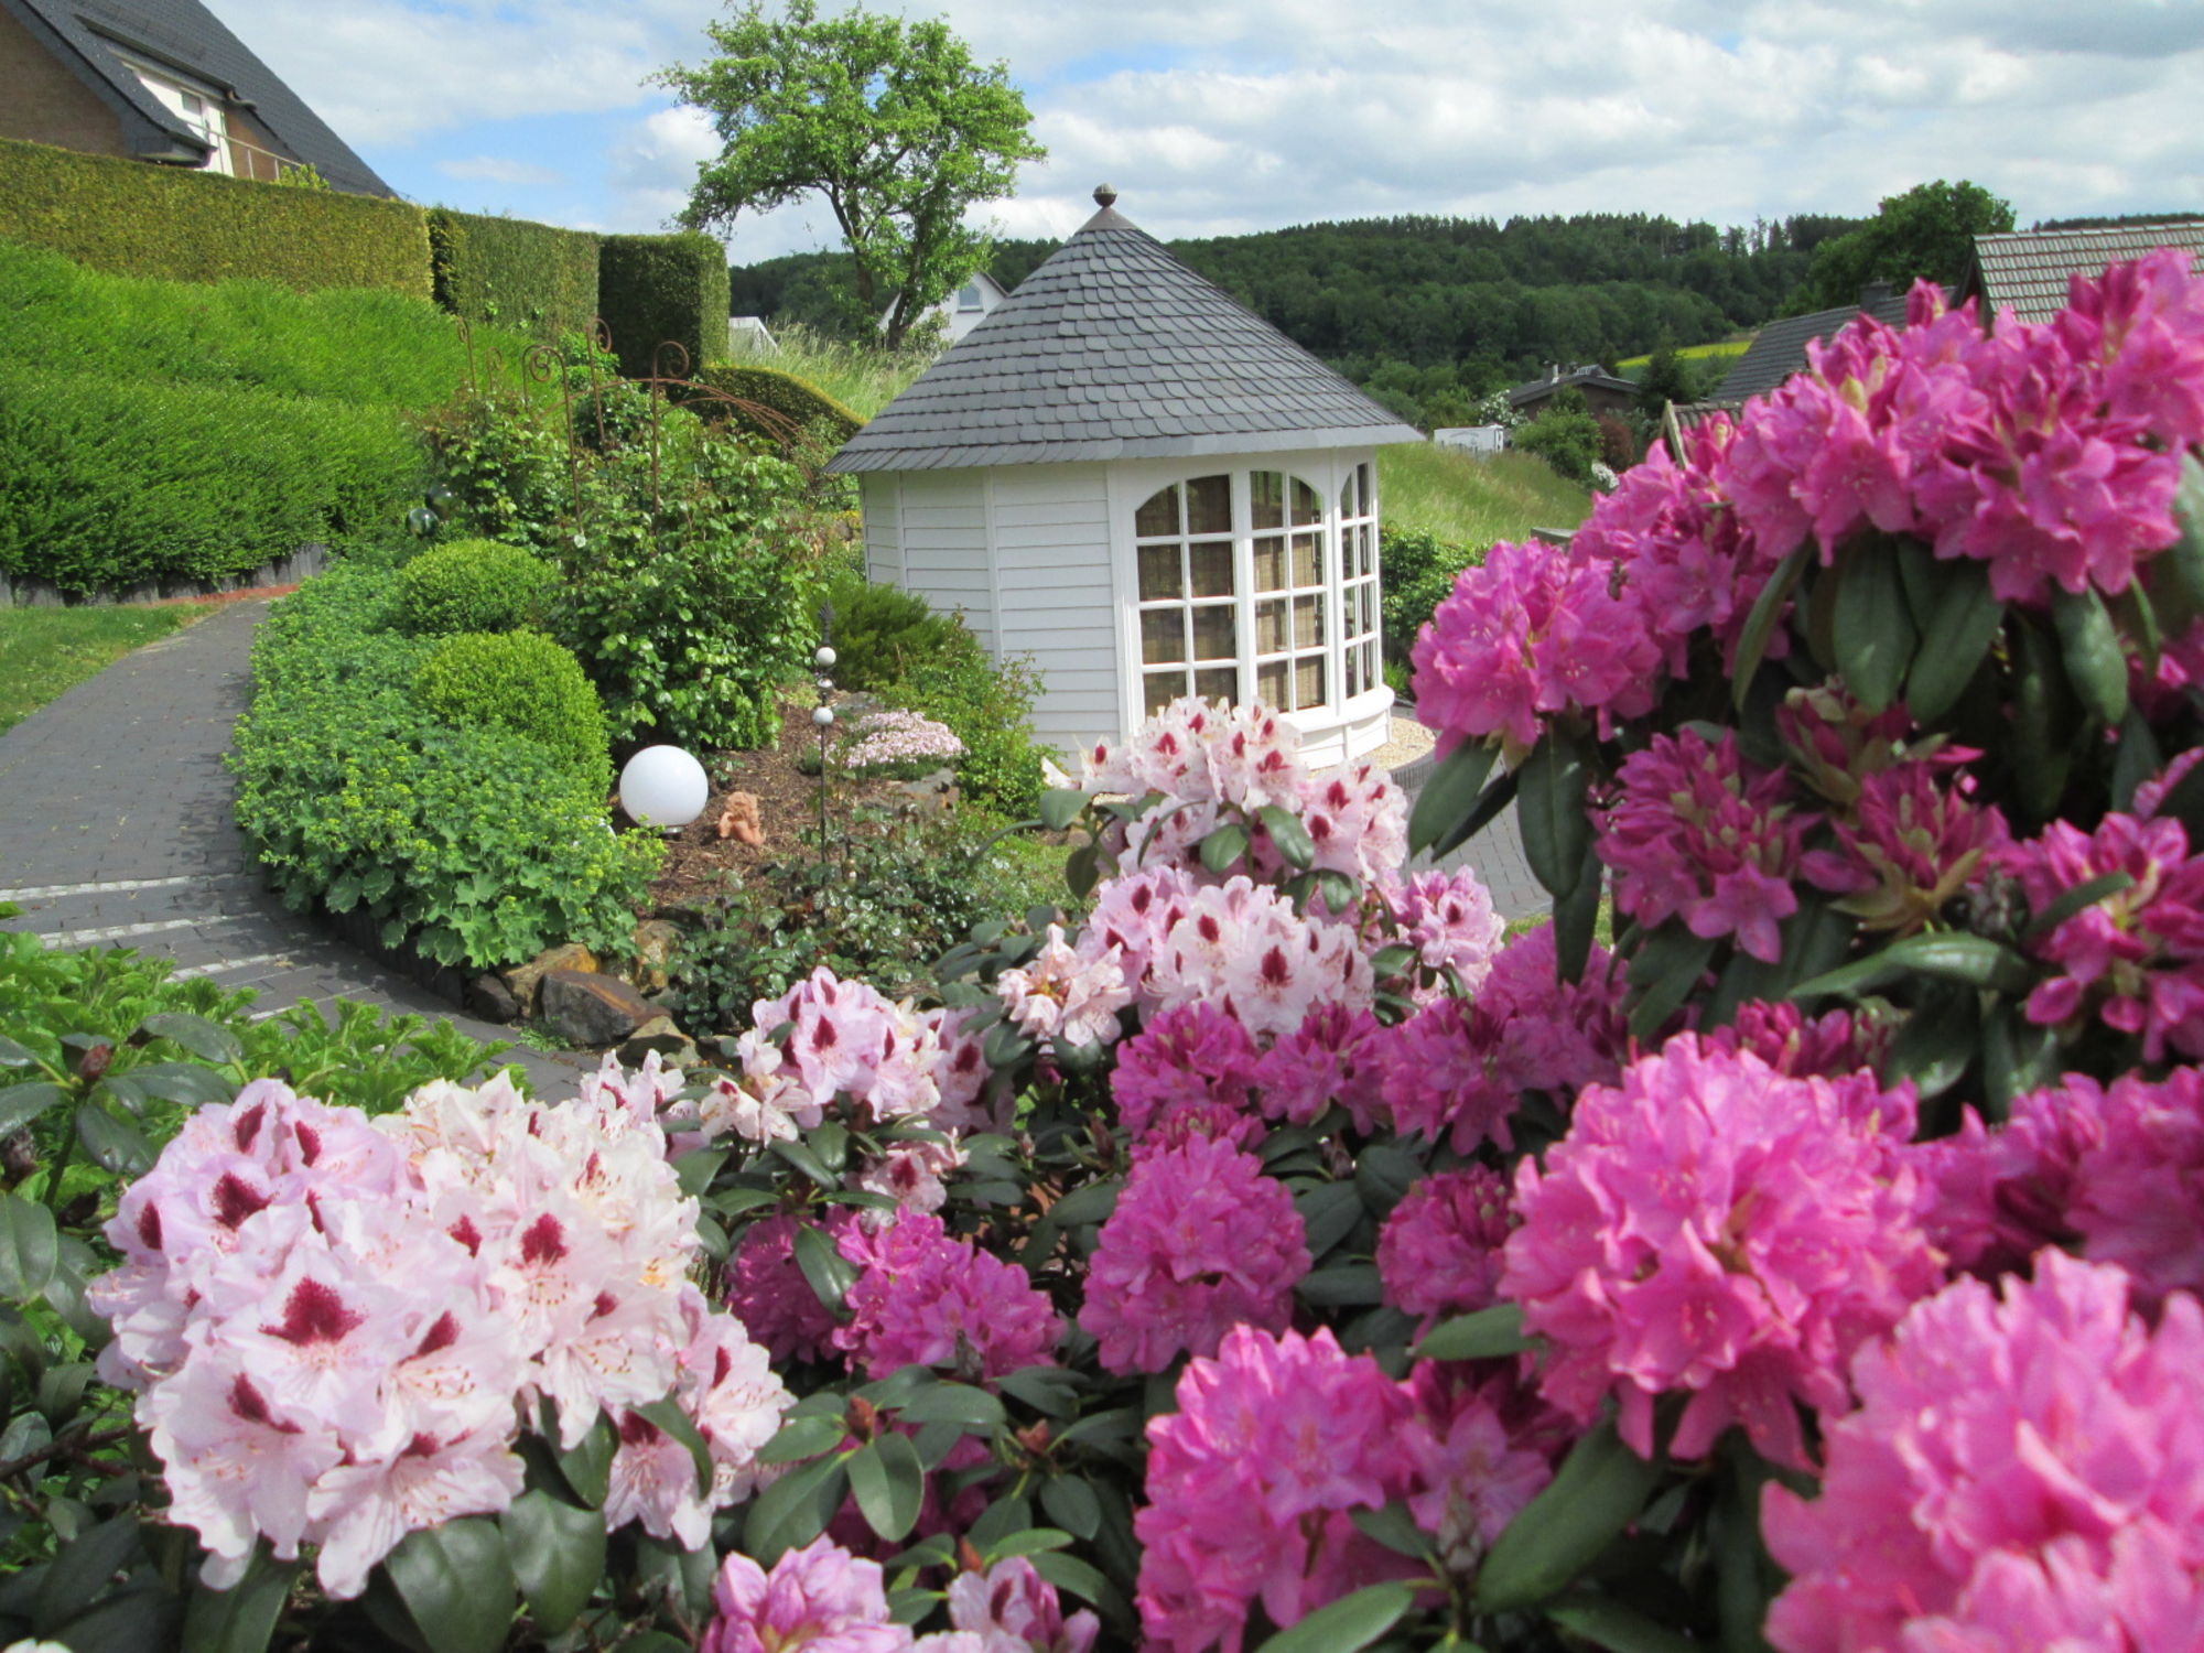
[[[712,0],[209,0],[401,194],[661,229],[716,143],[646,86]],[[831,9],[831,0],[827,4]],[[875,0],[875,9],[897,9]],[[934,15],[921,7],[912,15]],[[1049,159],[985,209],[1060,236],[1102,179],[1162,236],[1391,214],[1865,214],[1973,179],[2021,223],[2204,209],[2204,0],[950,0]],[[791,205],[752,262],[831,247]]]

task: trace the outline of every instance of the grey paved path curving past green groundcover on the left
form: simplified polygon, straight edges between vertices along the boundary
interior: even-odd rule
[[[507,1029],[452,1007],[335,941],[269,893],[223,767],[251,690],[269,602],[234,602],[163,637],[0,734],[0,928],[57,946],[174,959],[183,976],[256,987],[256,1014],[353,998],[445,1018],[472,1038]],[[514,1049],[540,1095],[573,1091],[580,1058]]]

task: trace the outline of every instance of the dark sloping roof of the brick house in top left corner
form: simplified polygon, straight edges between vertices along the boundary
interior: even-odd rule
[[[205,154],[207,141],[145,90],[117,48],[176,68],[245,104],[260,126],[328,179],[331,187],[350,194],[397,194],[198,0],[0,0],[0,4],[121,117],[139,154]]]

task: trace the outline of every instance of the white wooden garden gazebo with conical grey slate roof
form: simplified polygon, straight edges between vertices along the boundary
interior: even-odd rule
[[[1115,198],[835,454],[866,571],[1031,655],[1060,747],[1192,692],[1274,705],[1318,767],[1362,756],[1393,705],[1375,450],[1422,434]]]

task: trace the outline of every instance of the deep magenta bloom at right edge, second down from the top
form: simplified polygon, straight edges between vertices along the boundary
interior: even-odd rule
[[[2204,855],[2178,820],[2114,813],[2094,833],[2054,820],[2001,862],[2036,912],[2105,873],[2133,877],[2030,943],[2061,972],[2028,996],[2030,1020],[2094,1012],[2138,1036],[2144,1060],[2204,1056]]]

